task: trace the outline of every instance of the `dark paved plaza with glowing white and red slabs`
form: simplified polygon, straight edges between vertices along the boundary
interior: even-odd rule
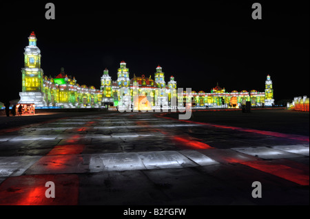
[[[158,113],[32,118],[0,118],[1,205],[309,205],[309,135]]]

